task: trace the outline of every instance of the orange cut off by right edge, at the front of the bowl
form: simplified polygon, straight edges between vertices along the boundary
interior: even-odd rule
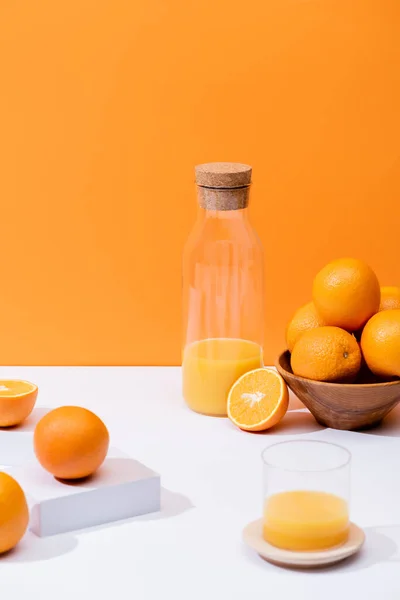
[[[368,321],[361,349],[375,375],[400,377],[400,309],[381,311]]]

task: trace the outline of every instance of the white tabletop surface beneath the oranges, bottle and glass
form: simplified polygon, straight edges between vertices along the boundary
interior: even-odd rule
[[[183,403],[171,367],[0,368],[0,378],[39,386],[22,428],[1,432],[0,463],[31,451],[45,408],[79,404],[98,413],[111,443],[161,474],[161,513],[52,538],[28,533],[0,559],[4,600],[400,599],[400,412],[370,433],[320,427],[291,410],[267,434],[202,417]],[[262,449],[278,440],[335,441],[352,452],[351,517],[365,549],[314,572],[274,567],[242,542],[261,516]]]

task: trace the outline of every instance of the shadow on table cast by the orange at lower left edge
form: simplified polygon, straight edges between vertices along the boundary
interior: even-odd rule
[[[72,552],[77,545],[78,540],[71,534],[40,538],[28,532],[16,548],[0,555],[0,565],[50,560]]]

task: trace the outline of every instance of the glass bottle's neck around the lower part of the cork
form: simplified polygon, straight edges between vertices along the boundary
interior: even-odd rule
[[[249,196],[249,186],[229,189],[197,187],[199,206],[210,214],[227,213],[229,216],[233,216],[233,213],[247,213]]]

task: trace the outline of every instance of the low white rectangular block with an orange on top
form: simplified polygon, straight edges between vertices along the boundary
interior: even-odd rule
[[[160,510],[160,476],[115,449],[92,477],[79,482],[58,481],[36,459],[3,470],[24,489],[30,529],[40,537]]]

